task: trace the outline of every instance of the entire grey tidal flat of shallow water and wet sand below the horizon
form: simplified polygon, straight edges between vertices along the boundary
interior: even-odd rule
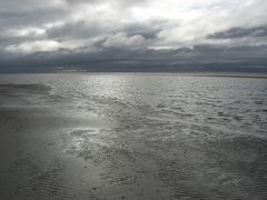
[[[0,199],[267,199],[267,79],[0,77]]]

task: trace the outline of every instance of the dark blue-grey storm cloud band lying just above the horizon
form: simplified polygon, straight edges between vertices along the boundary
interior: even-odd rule
[[[106,48],[81,53],[69,50],[6,56],[2,72],[57,70],[85,71],[267,71],[267,47],[221,48],[197,46],[177,50]],[[9,66],[4,68],[3,66]]]

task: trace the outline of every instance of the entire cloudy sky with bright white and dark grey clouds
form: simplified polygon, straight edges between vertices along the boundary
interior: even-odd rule
[[[0,72],[267,71],[266,0],[0,0]]]

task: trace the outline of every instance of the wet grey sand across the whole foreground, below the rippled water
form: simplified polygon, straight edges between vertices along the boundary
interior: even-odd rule
[[[55,109],[72,102],[51,90],[0,84],[1,200],[266,199],[265,139],[202,142],[208,127],[155,117],[128,116],[118,126],[107,117],[117,113]],[[190,141],[176,130],[188,130]]]

